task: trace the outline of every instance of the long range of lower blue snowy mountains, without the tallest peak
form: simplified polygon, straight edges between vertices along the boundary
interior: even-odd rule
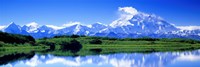
[[[168,32],[134,32],[131,30],[132,26],[122,26],[113,28],[109,25],[94,23],[91,27],[87,25],[76,24],[69,27],[64,27],[62,29],[53,29],[47,25],[39,26],[36,30],[29,31],[31,27],[24,28],[24,26],[19,26],[15,23],[11,23],[8,26],[5,26],[1,31],[14,33],[14,34],[25,34],[31,35],[34,38],[43,38],[43,37],[53,37],[56,35],[87,35],[87,36],[102,36],[102,37],[115,37],[115,38],[139,38],[139,37],[153,37],[153,38],[191,38],[191,39],[200,39],[200,30],[183,30],[177,28],[175,31]],[[136,28],[137,29],[137,28]],[[29,31],[29,32],[28,32]]]

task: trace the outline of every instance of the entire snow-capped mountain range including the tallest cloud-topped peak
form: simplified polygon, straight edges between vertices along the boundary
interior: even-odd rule
[[[100,22],[83,25],[70,22],[63,26],[39,25],[36,22],[24,26],[14,22],[0,26],[0,30],[15,34],[32,35],[35,38],[52,37],[55,35],[87,35],[116,38],[192,38],[200,40],[200,26],[175,26],[155,14],[137,11],[132,7],[120,7],[120,17],[111,24]]]

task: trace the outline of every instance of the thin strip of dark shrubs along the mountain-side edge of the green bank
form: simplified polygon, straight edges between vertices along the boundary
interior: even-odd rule
[[[164,42],[182,42],[182,43],[190,43],[196,44],[200,43],[199,40],[193,39],[183,39],[183,38],[150,38],[150,37],[142,37],[142,38],[110,38],[110,37],[96,37],[96,36],[84,36],[84,35],[62,35],[62,36],[54,36],[53,38],[79,38],[85,37],[86,39],[94,39],[91,41],[91,44],[96,44],[97,42],[101,42],[100,40],[117,40],[117,41],[164,41]]]

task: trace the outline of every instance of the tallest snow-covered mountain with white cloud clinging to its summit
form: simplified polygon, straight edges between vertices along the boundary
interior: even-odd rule
[[[178,30],[174,25],[154,14],[138,12],[131,7],[119,8],[119,10],[126,14],[122,14],[119,19],[110,24],[114,29],[118,28],[118,30],[126,33],[164,33]],[[119,31],[119,33],[121,33],[121,31]]]

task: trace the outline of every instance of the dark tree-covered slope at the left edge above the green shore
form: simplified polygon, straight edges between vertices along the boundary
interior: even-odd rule
[[[1,31],[0,41],[12,44],[35,43],[35,39],[30,35],[10,34]]]

